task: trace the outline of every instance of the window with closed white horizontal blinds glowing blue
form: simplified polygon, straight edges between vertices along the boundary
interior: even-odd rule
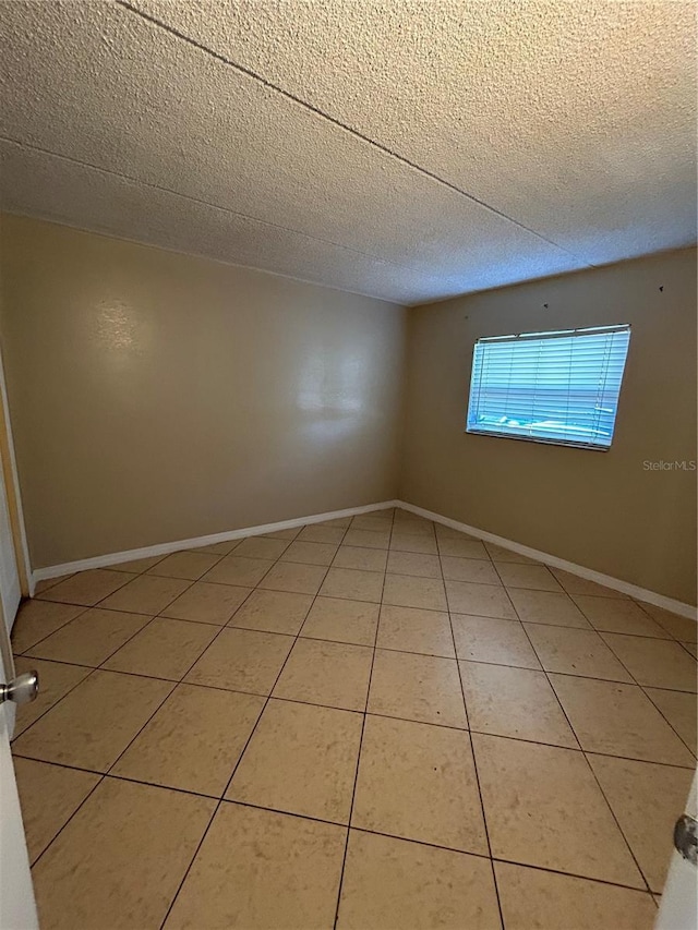
[[[629,326],[478,339],[468,433],[607,449]]]

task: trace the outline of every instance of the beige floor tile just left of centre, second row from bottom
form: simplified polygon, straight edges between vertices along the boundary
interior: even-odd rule
[[[272,699],[226,798],[348,823],[362,723],[350,711]]]

